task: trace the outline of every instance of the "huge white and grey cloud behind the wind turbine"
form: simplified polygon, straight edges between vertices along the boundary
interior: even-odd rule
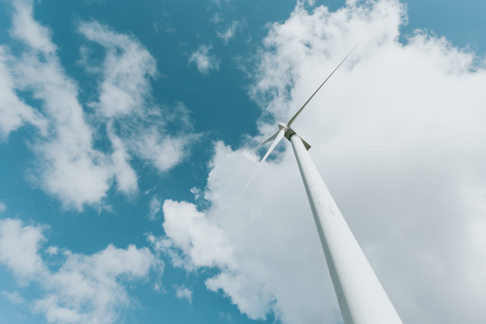
[[[288,120],[360,40],[293,128],[309,151],[404,323],[482,323],[486,299],[486,71],[475,53],[424,31],[399,42],[405,6],[297,4],[271,25],[253,98],[258,143]],[[270,98],[270,99],[268,99]],[[273,119],[266,123],[263,120]],[[290,144],[265,163],[218,142],[204,209],[163,204],[148,236],[191,271],[214,267],[220,291],[253,319],[338,323],[339,308]],[[235,172],[238,170],[238,172]],[[202,230],[204,228],[204,231]]]

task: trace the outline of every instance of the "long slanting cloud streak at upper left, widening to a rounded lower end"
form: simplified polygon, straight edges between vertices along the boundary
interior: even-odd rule
[[[18,1],[15,8],[11,34],[27,44],[14,62],[15,81],[18,89],[30,91],[43,103],[52,127],[50,136],[35,141],[39,159],[35,177],[65,206],[81,210],[85,204],[99,205],[112,172],[104,154],[92,148],[92,129],[77,99],[77,84],[60,65],[50,34],[32,18],[32,5]]]

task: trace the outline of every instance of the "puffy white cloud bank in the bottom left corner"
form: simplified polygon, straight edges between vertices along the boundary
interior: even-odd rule
[[[26,225],[18,220],[0,220],[0,264],[23,284],[36,283],[43,291],[28,301],[33,312],[49,323],[113,323],[121,312],[136,305],[126,285],[146,280],[151,270],[159,275],[163,263],[147,248],[112,244],[93,255],[62,250],[53,261],[43,244],[46,226]],[[51,270],[56,269],[56,270]],[[12,303],[25,303],[16,292],[2,292]]]

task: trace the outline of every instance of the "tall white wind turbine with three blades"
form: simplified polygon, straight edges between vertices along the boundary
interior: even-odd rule
[[[358,44],[359,45],[359,44]],[[356,47],[358,47],[356,45]],[[278,131],[261,145],[273,140],[267,153],[263,156],[257,170],[243,188],[248,187],[251,179],[260,169],[268,155],[285,137],[292,143],[295,158],[309,198],[312,215],[317,227],[324,255],[328,264],[332,284],[338,300],[345,324],[401,324],[401,320],[390,299],[383,290],[380,281],[364,256],[358,242],[349,229],[343,215],[322,177],[317,171],[311,156],[307,152],[311,146],[302,139],[290,125],[302,112],[312,97],[328,81],[330,76],[343,64],[356,47],[347,54],[344,60],[335,68],[326,80],[315,90],[311,98],[287,122],[279,123]],[[243,194],[240,194],[237,201]],[[236,205],[236,203],[235,203]]]

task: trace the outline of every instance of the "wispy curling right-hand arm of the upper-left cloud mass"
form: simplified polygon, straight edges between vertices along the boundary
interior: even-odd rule
[[[108,119],[108,135],[113,153],[117,183],[126,193],[137,189],[137,176],[129,155],[137,155],[164,172],[187,155],[191,136],[184,132],[166,134],[166,123],[181,119],[191,129],[187,108],[178,103],[174,112],[153,106],[151,79],[156,77],[156,60],[137,39],[118,34],[96,21],[83,22],[79,33],[103,46],[106,51],[99,84],[99,102],[91,105]],[[89,67],[87,62],[88,70]],[[116,127],[114,126],[116,124]]]

